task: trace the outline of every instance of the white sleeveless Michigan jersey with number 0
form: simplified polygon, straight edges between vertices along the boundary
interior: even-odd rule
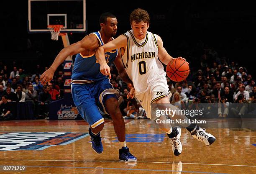
[[[147,31],[146,38],[141,41],[135,38],[133,30],[130,30],[124,36],[127,37],[127,46],[122,60],[138,97],[151,90],[151,84],[157,83],[159,77],[165,79],[166,72],[158,59],[156,35]]]

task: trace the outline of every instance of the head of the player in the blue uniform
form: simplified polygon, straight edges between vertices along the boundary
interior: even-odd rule
[[[117,31],[117,19],[112,13],[102,13],[100,15],[100,32],[104,32],[106,36],[114,37]]]

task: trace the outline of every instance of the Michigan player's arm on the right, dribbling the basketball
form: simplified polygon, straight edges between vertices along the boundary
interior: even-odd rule
[[[160,61],[165,65],[167,65],[169,62],[173,62],[174,58],[167,53],[160,36],[157,36],[157,45],[158,45],[158,57]],[[177,59],[183,59],[183,58],[178,57]],[[184,60],[186,61],[186,59]]]

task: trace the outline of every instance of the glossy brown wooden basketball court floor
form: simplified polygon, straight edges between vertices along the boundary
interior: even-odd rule
[[[228,119],[221,121],[229,123]],[[92,151],[89,126],[83,120],[15,120],[0,125],[0,149],[23,148],[1,150],[0,166],[26,166],[25,171],[0,170],[0,174],[256,174],[256,129],[209,128],[207,132],[217,139],[211,146],[182,129],[183,151],[177,157],[169,138],[150,120],[125,120],[127,146],[137,157],[137,163],[125,163],[118,161],[119,146],[111,120],[105,120],[101,132],[102,154]],[[41,142],[29,140],[33,133],[61,135]],[[25,139],[13,141],[17,135],[25,135]],[[70,141],[56,145],[63,140]],[[28,141],[33,146],[27,147]],[[22,142],[25,145],[20,146]]]

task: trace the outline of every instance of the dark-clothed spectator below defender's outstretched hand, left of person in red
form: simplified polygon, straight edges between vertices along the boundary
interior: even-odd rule
[[[46,118],[49,113],[49,103],[51,101],[51,95],[49,94],[49,86],[44,86],[44,91],[40,92],[38,96],[38,118]]]

